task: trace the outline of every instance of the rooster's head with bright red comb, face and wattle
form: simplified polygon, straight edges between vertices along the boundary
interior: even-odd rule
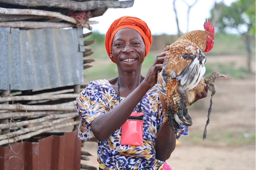
[[[212,27],[211,20],[209,20],[208,18],[208,22],[207,22],[207,19],[205,19],[205,23],[203,24],[203,27],[206,31],[208,31],[207,44],[204,52],[209,52],[212,49],[214,44],[214,26]]]

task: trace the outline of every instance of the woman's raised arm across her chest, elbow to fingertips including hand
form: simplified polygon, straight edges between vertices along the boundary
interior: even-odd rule
[[[119,129],[129,118],[141,98],[156,84],[157,71],[163,67],[161,63],[164,62],[165,55],[164,51],[157,56],[141,84],[122,102],[91,122],[92,133],[99,141],[106,140]]]

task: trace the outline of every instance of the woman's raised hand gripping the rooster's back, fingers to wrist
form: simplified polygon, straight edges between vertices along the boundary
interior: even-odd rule
[[[168,52],[168,46],[164,49],[164,51],[157,55],[155,62],[149,69],[145,79],[143,80],[149,88],[152,88],[157,83],[157,72],[159,69],[163,68],[163,62],[165,59],[165,55]]]

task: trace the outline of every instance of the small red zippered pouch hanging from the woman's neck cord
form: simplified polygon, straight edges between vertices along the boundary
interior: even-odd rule
[[[121,145],[142,146],[143,116],[143,112],[132,112],[131,116],[122,125]]]

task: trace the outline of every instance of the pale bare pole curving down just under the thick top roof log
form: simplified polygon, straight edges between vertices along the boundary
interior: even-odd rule
[[[60,12],[52,12],[52,11],[45,11],[45,10],[38,10],[38,9],[14,9],[14,8],[0,7],[0,14],[48,16],[48,17],[59,18],[61,20],[64,20],[73,24],[77,24],[74,18],[71,18],[67,15],[63,15]]]

